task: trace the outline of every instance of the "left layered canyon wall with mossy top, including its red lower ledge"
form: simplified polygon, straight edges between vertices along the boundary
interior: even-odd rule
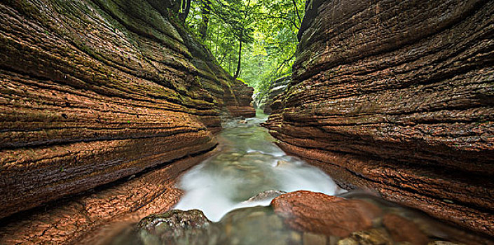
[[[217,145],[221,111],[254,116],[252,88],[191,36],[176,18],[179,4],[1,1],[0,218],[120,182],[74,197],[52,216],[34,211],[45,225],[4,219],[0,237],[24,228],[37,239],[57,235],[62,225],[48,220],[60,218],[79,227],[67,228],[66,241],[156,200],[167,202],[153,209],[170,207],[178,195],[170,195],[172,179]],[[186,163],[160,170],[177,161]],[[142,174],[150,168],[158,170]]]

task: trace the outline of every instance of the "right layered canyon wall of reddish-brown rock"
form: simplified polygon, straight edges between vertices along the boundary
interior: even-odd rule
[[[310,1],[265,124],[347,188],[494,235],[494,1]]]

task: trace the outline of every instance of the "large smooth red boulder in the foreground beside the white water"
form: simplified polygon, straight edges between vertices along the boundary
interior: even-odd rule
[[[280,195],[271,206],[293,229],[338,237],[371,228],[372,219],[381,212],[369,202],[306,190]]]

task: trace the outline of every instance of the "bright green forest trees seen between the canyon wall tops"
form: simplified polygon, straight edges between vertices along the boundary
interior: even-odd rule
[[[219,64],[256,92],[291,73],[302,0],[182,0],[179,18]]]

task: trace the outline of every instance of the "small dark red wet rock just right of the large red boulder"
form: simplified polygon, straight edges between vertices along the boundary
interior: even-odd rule
[[[390,232],[393,241],[408,241],[412,245],[425,245],[429,239],[412,221],[396,214],[385,214],[383,225]]]

